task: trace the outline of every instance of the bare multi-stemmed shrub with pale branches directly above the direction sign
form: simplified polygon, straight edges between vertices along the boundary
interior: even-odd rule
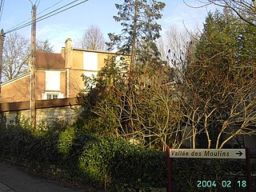
[[[213,59],[186,66],[172,59],[181,80],[177,84],[180,106],[175,111],[186,119],[183,126],[194,149],[205,141],[206,148],[221,149],[235,138],[256,134],[255,78],[249,70],[234,75],[238,69],[211,66],[209,60]]]

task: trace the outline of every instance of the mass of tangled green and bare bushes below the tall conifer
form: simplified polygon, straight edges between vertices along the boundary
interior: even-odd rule
[[[125,57],[118,61],[113,56],[97,77],[85,78],[86,85],[94,85],[82,93],[85,124],[94,122],[91,128],[99,127],[100,134],[135,139],[155,149],[182,146],[190,136],[174,109],[179,93],[172,84],[173,70],[158,58],[138,64],[132,74],[126,69]]]

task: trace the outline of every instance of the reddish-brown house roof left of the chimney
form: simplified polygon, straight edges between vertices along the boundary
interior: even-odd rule
[[[65,60],[62,54],[37,51],[35,54],[37,70],[62,70],[65,69]]]

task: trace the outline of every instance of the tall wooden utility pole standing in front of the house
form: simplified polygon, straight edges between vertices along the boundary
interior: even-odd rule
[[[35,41],[36,41],[36,10],[32,6],[31,46],[30,46],[30,125],[36,127],[36,100],[35,100]]]

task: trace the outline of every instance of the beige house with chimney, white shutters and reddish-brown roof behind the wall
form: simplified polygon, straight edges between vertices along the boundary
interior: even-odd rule
[[[36,53],[36,100],[74,98],[84,88],[82,74],[95,75],[113,53],[75,49],[71,39],[61,54]],[[30,100],[30,73],[2,83],[1,102]]]

